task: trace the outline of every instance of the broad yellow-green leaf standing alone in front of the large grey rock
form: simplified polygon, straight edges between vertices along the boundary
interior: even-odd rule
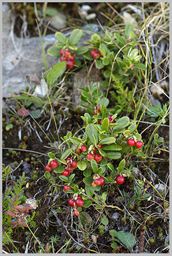
[[[56,80],[64,74],[66,70],[66,62],[60,62],[53,66],[52,70],[47,75],[47,82],[49,85],[54,84]]]

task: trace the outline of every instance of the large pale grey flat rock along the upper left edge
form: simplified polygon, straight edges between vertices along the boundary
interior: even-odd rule
[[[31,86],[25,76],[41,77],[41,72],[44,72],[39,37],[17,38],[13,34],[10,36],[11,17],[11,10],[3,8],[3,97],[11,95],[11,92],[19,94],[21,90],[25,90],[25,86]],[[44,48],[47,50],[55,42],[54,35],[46,36]],[[47,60],[50,67],[57,63],[57,58],[48,55]]]

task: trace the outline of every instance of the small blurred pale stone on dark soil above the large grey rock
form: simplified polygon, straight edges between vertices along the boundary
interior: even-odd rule
[[[60,13],[58,10],[56,10],[56,13],[56,16],[48,17],[46,21],[50,21],[50,26],[57,30],[65,28],[66,16],[63,13]]]

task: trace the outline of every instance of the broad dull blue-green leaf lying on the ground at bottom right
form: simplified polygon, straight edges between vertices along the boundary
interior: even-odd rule
[[[125,245],[128,249],[133,249],[133,246],[136,243],[136,238],[132,233],[124,232],[124,231],[118,231],[118,240]]]

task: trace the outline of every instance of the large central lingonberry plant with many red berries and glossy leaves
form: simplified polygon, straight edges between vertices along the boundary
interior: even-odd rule
[[[81,118],[84,120],[84,134],[82,138],[72,136],[69,132],[62,139],[68,145],[60,159],[54,153],[48,165],[53,170],[49,172],[46,166],[45,177],[54,179],[54,174],[64,182],[63,190],[70,194],[68,205],[78,216],[82,208],[94,204],[96,208],[106,206],[106,192],[109,183],[116,186],[124,183],[124,178],[131,175],[131,168],[127,168],[128,155],[140,155],[143,146],[141,135],[137,131],[134,121],[128,117],[118,117],[118,108],[108,108],[108,99],[95,97],[91,99],[94,84],[91,87],[90,97],[87,97],[92,107],[88,108]],[[88,96],[87,95],[87,96]],[[86,97],[86,94],[84,94]],[[96,111],[96,113],[95,113]],[[98,120],[101,121],[98,122]],[[117,164],[118,163],[118,164]],[[79,174],[79,182],[76,173]]]

